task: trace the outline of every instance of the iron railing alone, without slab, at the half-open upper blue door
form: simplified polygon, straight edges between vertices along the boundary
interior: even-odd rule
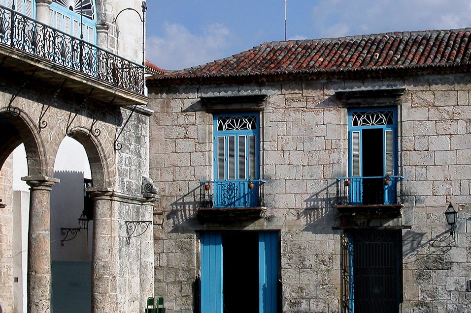
[[[399,204],[397,184],[403,176],[336,178],[337,205]]]

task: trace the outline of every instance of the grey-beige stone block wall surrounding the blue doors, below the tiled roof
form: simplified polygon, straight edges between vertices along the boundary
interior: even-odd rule
[[[356,226],[402,229],[401,312],[471,310],[471,293],[465,291],[471,279],[467,76],[187,83],[149,88],[156,112],[150,124],[150,175],[160,187],[155,209],[162,212],[154,228],[155,293],[165,297],[169,312],[192,312],[191,284],[200,269],[197,231],[216,229],[281,230],[283,312],[340,312],[343,230],[333,203],[335,178],[348,173],[348,107],[335,91],[391,86],[405,88],[397,107],[398,169],[406,178],[399,188],[402,216],[358,219]],[[266,216],[201,224],[198,186],[212,179],[213,117],[200,97],[254,94],[267,95],[260,113]],[[449,203],[459,211],[456,240],[443,215]]]

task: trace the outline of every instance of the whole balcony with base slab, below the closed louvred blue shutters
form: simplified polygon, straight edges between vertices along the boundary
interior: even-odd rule
[[[200,181],[200,217],[257,218],[265,211],[265,181]]]

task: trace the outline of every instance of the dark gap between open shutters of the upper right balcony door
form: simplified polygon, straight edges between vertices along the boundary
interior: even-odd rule
[[[383,130],[363,130],[363,204],[384,203],[384,182],[382,178],[368,178],[384,175]]]

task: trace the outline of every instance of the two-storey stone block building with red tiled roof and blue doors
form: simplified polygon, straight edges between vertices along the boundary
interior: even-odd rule
[[[240,295],[246,312],[471,311],[469,37],[266,43],[148,79],[155,293],[168,312],[223,312]],[[246,116],[258,126],[233,130],[259,133],[243,154],[250,135],[220,125]],[[224,200],[240,180],[236,197],[263,202]]]

